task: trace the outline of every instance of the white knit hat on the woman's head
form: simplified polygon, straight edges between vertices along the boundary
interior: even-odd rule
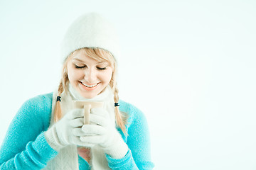
[[[77,18],[68,28],[61,44],[62,61],[75,50],[99,47],[119,57],[119,40],[112,24],[97,13],[87,13]]]

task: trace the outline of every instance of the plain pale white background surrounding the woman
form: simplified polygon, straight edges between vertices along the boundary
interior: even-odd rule
[[[82,13],[119,32],[120,98],[148,119],[155,169],[256,169],[256,1],[0,1],[0,142],[28,98],[60,80]]]

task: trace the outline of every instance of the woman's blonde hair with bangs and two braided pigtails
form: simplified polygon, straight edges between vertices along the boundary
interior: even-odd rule
[[[112,78],[110,80],[110,87],[112,88],[112,91],[114,92],[114,102],[118,103],[119,96],[118,96],[118,89],[117,89],[117,62],[114,60],[114,57],[111,55],[110,52],[107,50],[103,50],[101,48],[81,48],[78,50],[75,50],[72,52],[69,57],[65,60],[65,63],[63,64],[63,72],[62,77],[60,80],[60,84],[58,86],[58,96],[63,93],[63,91],[67,91],[67,84],[68,84],[68,72],[67,72],[67,65],[68,62],[73,58],[74,54],[78,51],[82,51],[85,55],[88,57],[91,57],[92,59],[98,60],[98,61],[106,61],[109,62],[110,66],[113,68]],[[55,100],[55,98],[53,99]],[[125,125],[127,124],[127,115],[125,113],[122,113],[119,111],[118,106],[114,108],[114,114],[116,119],[116,124],[119,128],[121,128],[122,132],[124,134],[127,134]],[[60,107],[60,101],[56,102],[55,105],[55,111],[54,111],[54,121],[57,122],[62,118],[63,114]]]

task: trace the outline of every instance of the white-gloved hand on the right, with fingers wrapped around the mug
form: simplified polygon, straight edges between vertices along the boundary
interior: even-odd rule
[[[84,136],[80,140],[84,142],[83,145],[100,145],[114,159],[120,159],[127,154],[128,146],[111,122],[107,111],[103,108],[92,108],[90,123],[82,126]]]

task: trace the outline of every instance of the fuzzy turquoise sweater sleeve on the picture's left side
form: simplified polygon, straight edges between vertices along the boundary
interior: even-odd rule
[[[12,120],[0,149],[0,169],[43,169],[57,152],[44,136],[53,94],[26,101]]]

